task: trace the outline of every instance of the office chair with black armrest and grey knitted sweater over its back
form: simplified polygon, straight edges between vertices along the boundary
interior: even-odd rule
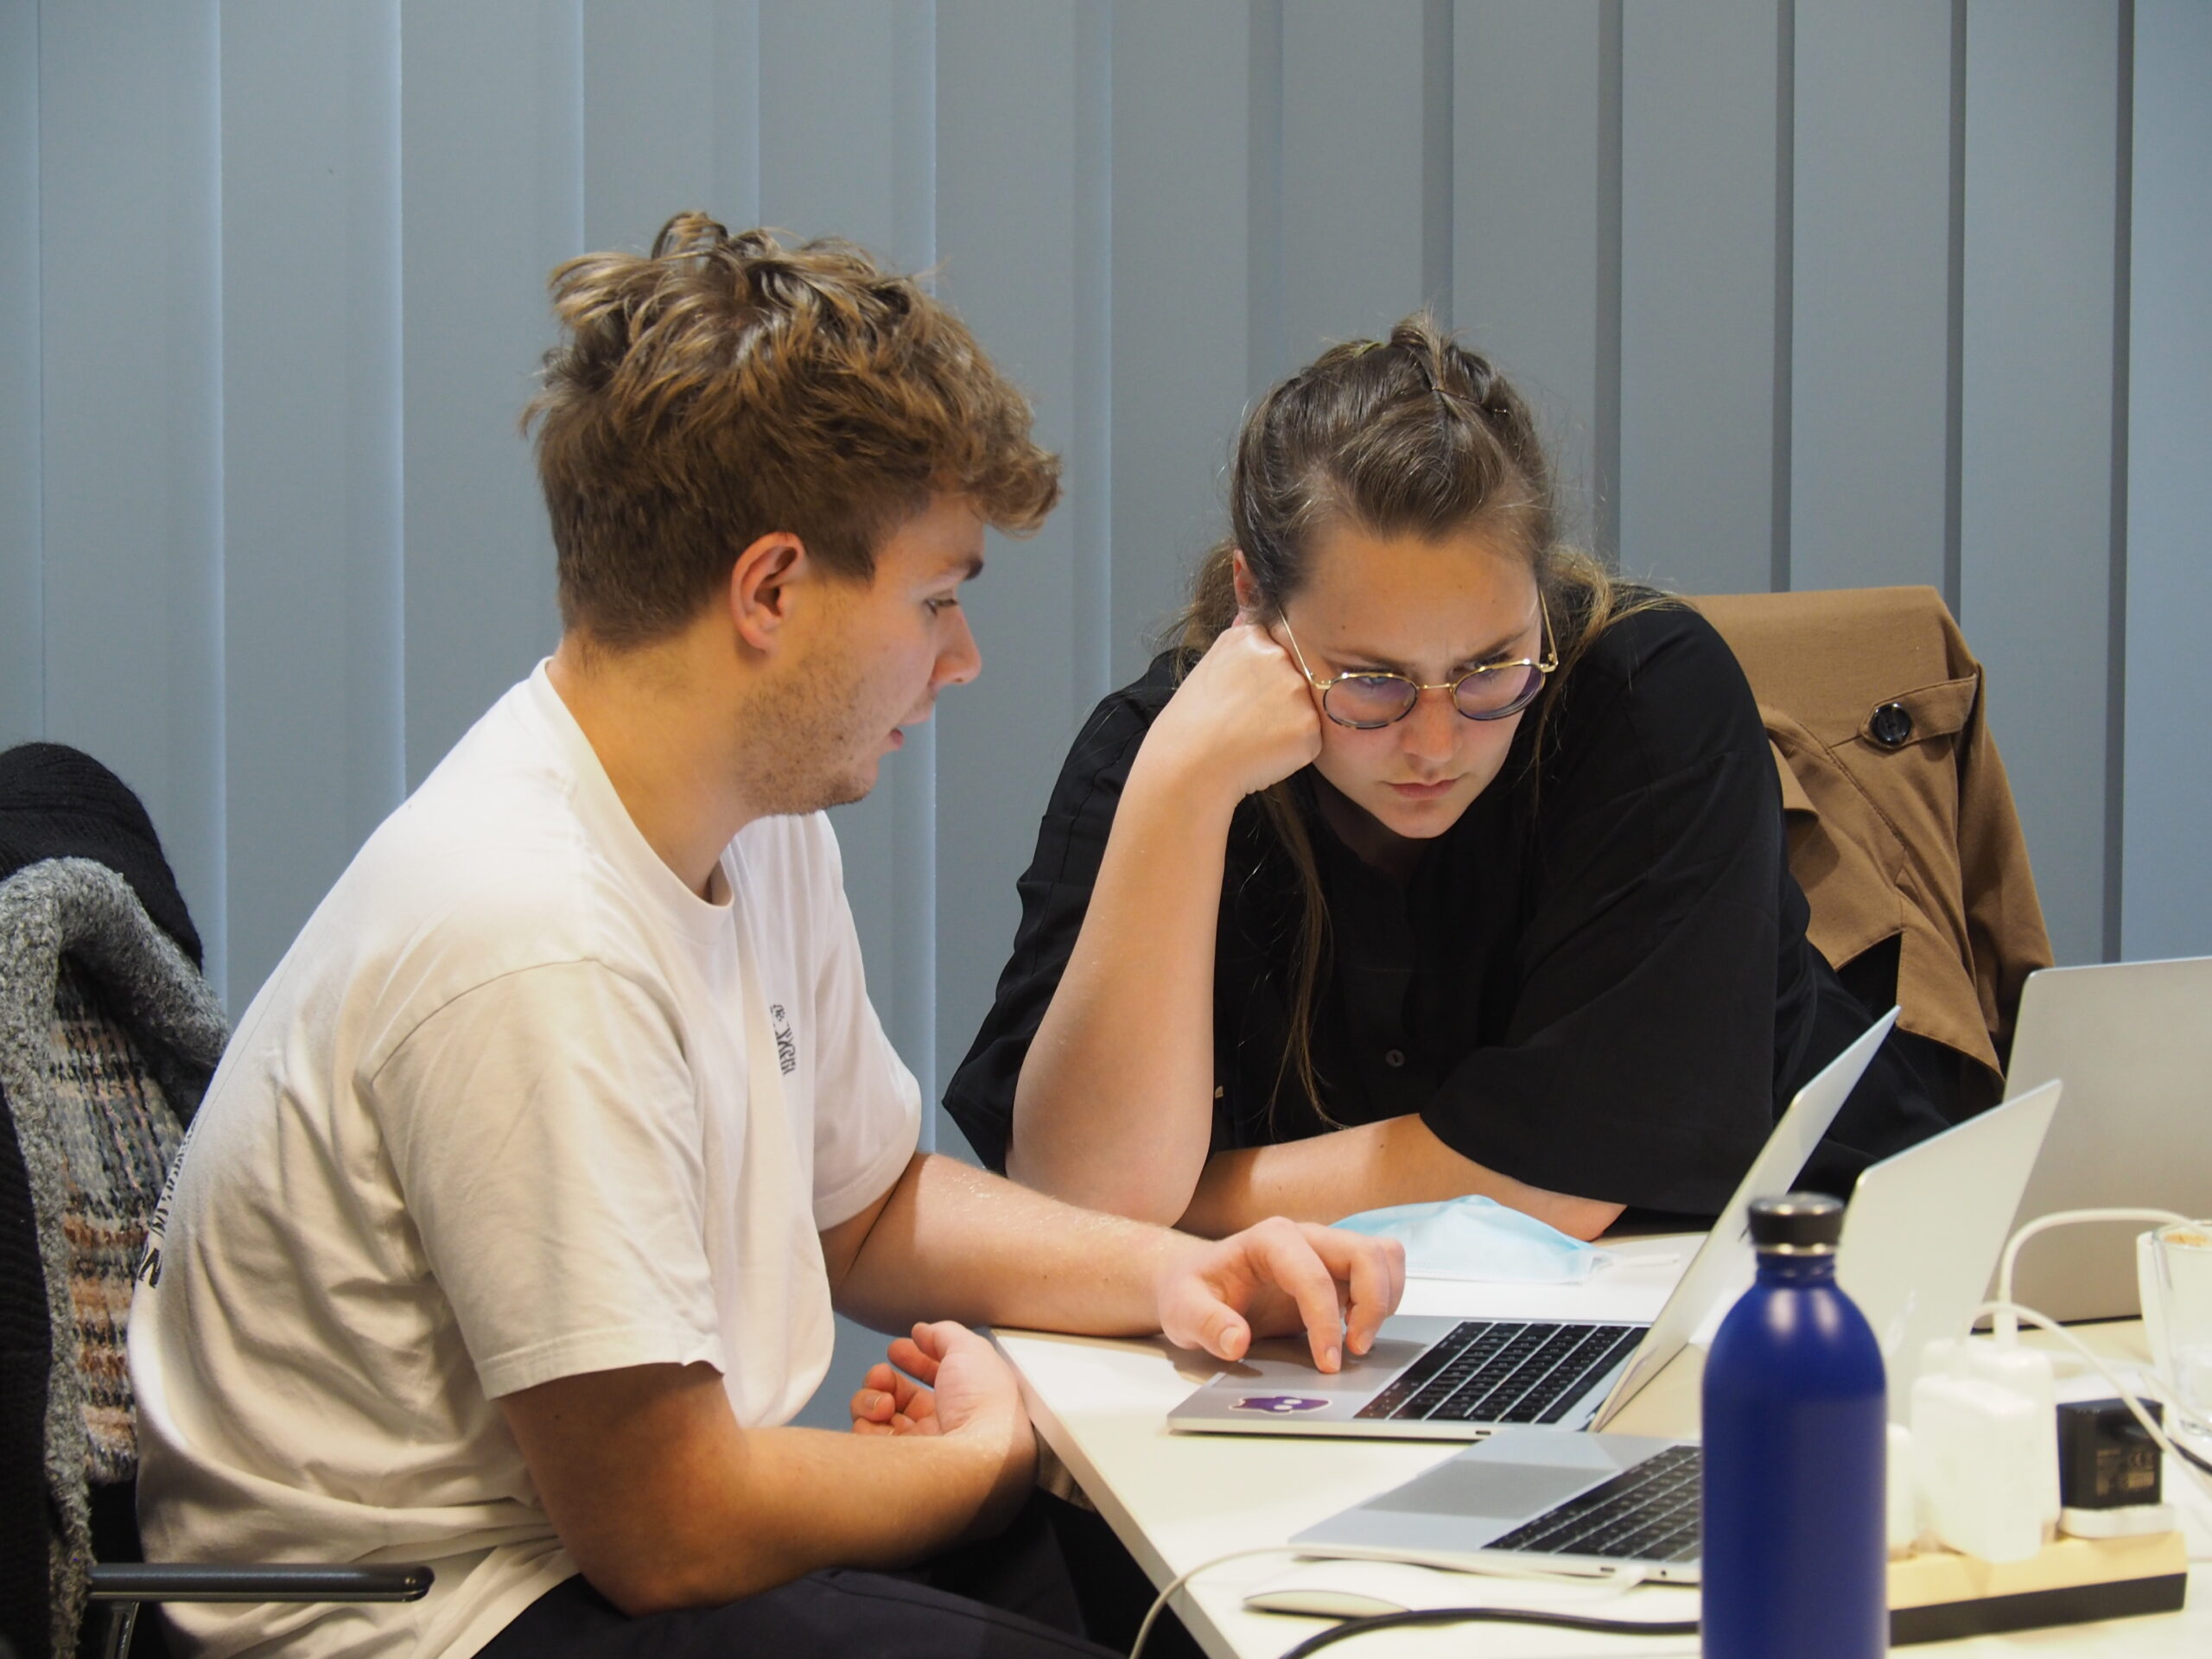
[[[144,1601],[414,1601],[431,1584],[407,1564],[113,1559],[137,1555],[131,1287],[226,1037],[115,869],[42,858],[0,880],[0,1644],[20,1659],[122,1659]],[[166,1652],[157,1624],[142,1635]]]

